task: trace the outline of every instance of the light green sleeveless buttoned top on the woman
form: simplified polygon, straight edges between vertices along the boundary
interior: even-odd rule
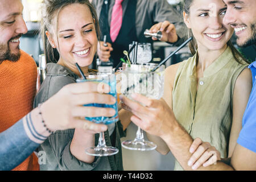
[[[228,157],[229,135],[232,126],[232,98],[237,77],[247,67],[234,59],[228,47],[204,71],[196,91],[197,53],[183,61],[177,69],[172,90],[172,108],[177,121],[193,139],[209,142]],[[183,170],[175,162],[174,170]]]

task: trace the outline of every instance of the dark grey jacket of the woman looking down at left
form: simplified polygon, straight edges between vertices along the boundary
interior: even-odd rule
[[[48,98],[57,93],[63,86],[76,82],[77,78],[78,76],[70,69],[59,64],[48,63],[47,76],[40,86],[38,94],[36,94],[34,107],[47,101]],[[109,136],[110,130],[112,130],[111,136]],[[74,129],[56,131],[38,147],[38,152],[44,151],[46,154],[45,163],[40,164],[40,170],[123,170],[120,138],[124,137],[125,133],[123,132],[120,121],[109,126],[109,130],[104,133],[106,145],[117,147],[119,149],[118,154],[107,157],[96,157],[92,164],[81,162],[71,154],[69,148],[74,132]],[[96,134],[96,145],[98,143],[98,137],[98,134]],[[85,150],[85,148],[81,148],[81,150]]]

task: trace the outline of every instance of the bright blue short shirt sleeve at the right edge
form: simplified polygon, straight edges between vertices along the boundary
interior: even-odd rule
[[[249,68],[253,76],[253,89],[243,114],[242,130],[237,139],[237,143],[249,150],[256,152],[256,62]]]

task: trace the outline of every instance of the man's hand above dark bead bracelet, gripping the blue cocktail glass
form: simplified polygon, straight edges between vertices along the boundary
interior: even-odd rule
[[[42,115],[50,130],[81,128],[98,133],[108,129],[106,125],[86,121],[85,117],[112,117],[115,110],[107,107],[89,107],[85,104],[112,105],[116,102],[108,85],[81,82],[65,85],[41,106]]]

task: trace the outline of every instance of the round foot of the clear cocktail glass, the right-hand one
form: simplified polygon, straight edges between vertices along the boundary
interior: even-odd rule
[[[122,147],[129,150],[150,151],[157,147],[155,143],[144,140],[126,140],[122,142]]]

